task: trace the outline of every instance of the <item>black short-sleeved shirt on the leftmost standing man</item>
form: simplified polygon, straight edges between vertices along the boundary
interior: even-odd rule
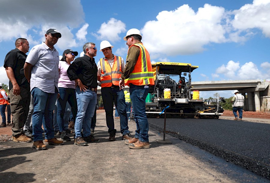
[[[27,55],[18,48],[12,49],[7,53],[4,60],[4,67],[11,67],[13,69],[14,77],[19,86],[28,85],[27,79],[24,75],[23,66],[25,64]],[[9,81],[9,89],[13,88]]]

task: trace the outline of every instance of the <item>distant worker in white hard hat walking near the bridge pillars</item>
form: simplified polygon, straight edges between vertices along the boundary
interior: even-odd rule
[[[234,120],[239,120],[242,121],[242,114],[243,114],[243,107],[244,107],[244,96],[239,94],[238,90],[233,91],[233,93],[235,94],[232,98],[232,112],[235,116]],[[237,116],[237,112],[239,113],[239,118]]]

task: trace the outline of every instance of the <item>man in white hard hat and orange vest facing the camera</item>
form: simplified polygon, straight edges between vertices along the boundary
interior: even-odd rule
[[[122,57],[113,55],[113,46],[109,41],[102,41],[100,51],[103,52],[104,58],[98,61],[98,81],[101,82],[102,100],[106,112],[106,123],[109,141],[115,141],[116,129],[113,120],[113,103],[120,117],[120,127],[122,140],[132,139],[128,130],[128,117],[126,112],[125,94],[119,88],[119,78],[125,68],[125,62]]]

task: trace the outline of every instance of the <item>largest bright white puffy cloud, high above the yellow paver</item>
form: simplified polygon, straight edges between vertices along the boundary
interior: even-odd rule
[[[194,12],[187,4],[173,11],[162,11],[157,20],[146,22],[141,30],[149,52],[186,55],[204,50],[203,46],[226,41],[221,25],[224,8],[205,4]],[[157,46],[162,45],[162,46]]]

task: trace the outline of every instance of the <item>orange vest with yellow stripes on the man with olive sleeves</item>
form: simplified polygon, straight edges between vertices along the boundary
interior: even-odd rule
[[[140,48],[140,55],[137,59],[134,70],[129,75],[129,78],[125,79],[125,85],[129,86],[130,83],[140,86],[155,85],[149,52],[143,46],[143,43],[137,43],[131,46],[137,46]]]

